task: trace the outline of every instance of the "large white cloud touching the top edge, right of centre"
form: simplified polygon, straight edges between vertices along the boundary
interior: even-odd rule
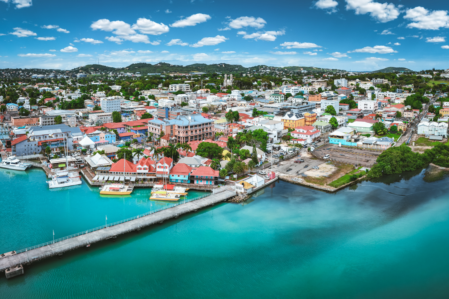
[[[389,22],[399,16],[399,8],[392,3],[381,4],[373,0],[346,0],[346,10],[354,9],[356,14],[370,13],[370,16],[381,23]]]

